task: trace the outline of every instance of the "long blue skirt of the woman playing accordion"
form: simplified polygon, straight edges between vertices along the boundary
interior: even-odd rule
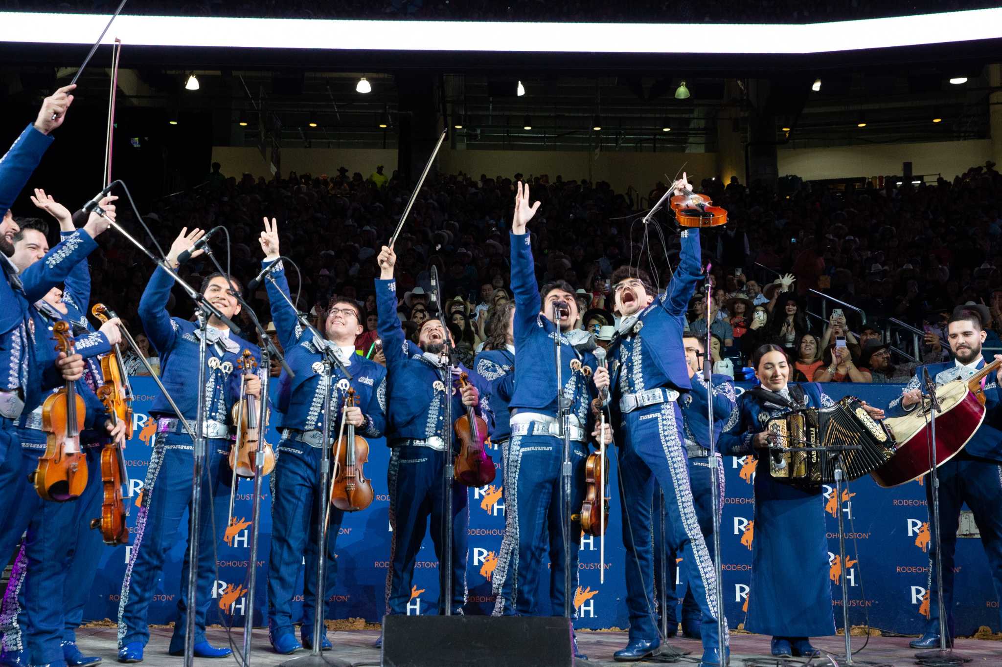
[[[776,482],[761,456],[755,480],[752,583],[745,629],[781,637],[835,634],[825,497]]]

